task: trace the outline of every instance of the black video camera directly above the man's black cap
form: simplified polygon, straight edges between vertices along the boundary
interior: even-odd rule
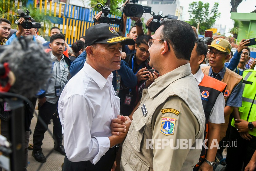
[[[109,6],[105,5],[103,6],[101,3],[97,3],[97,8],[101,8],[102,10],[102,15],[99,19],[100,23],[108,23],[108,24],[121,24],[121,19],[120,18],[112,18],[112,17],[108,17],[109,13],[110,13],[110,8]]]

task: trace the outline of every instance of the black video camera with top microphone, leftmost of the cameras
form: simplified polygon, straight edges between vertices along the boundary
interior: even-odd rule
[[[26,15],[25,13],[23,12],[23,10],[19,9],[18,10],[18,14],[19,15],[14,15],[13,18],[15,19],[19,19],[19,18],[24,18],[25,21],[21,24],[21,26],[24,28],[24,29],[31,29],[31,28],[38,28],[40,29],[41,28],[41,24],[39,22],[30,22],[28,20],[31,20],[31,16],[29,15],[29,10],[26,10]]]

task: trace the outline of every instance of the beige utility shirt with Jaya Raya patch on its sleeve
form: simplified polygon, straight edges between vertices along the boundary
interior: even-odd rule
[[[170,135],[161,132],[164,129],[163,124],[161,126],[163,117],[176,119],[174,132]],[[164,74],[143,90],[141,103],[133,115],[122,147],[121,170],[192,170],[201,149],[171,149],[169,146],[150,149],[147,141],[164,138],[176,141],[192,137],[194,145],[196,139],[203,139],[204,125],[200,90],[189,64]]]

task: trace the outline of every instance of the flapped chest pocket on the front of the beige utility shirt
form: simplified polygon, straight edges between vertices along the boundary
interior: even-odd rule
[[[141,141],[145,131],[146,120],[142,114],[142,110],[139,108],[133,115],[132,124],[130,126],[127,139],[133,148],[140,152]]]

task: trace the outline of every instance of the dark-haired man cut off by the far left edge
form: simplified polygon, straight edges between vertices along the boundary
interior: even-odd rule
[[[11,22],[5,18],[0,18],[0,46],[5,45],[10,35]]]

